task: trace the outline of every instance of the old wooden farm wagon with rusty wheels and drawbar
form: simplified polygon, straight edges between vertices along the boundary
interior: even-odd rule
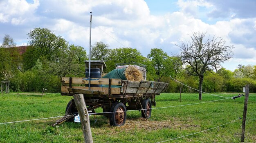
[[[89,84],[88,78],[62,77],[61,95],[82,93],[88,111],[95,113],[96,108],[103,108],[103,113],[97,115],[109,117],[112,126],[125,124],[127,110],[145,109],[141,110],[141,116],[150,118],[151,106],[156,105],[155,96],[162,93],[168,85],[164,82],[134,82],[115,78],[91,78],[90,89],[85,87],[86,84]],[[74,100],[70,100],[65,115],[74,115],[77,112]],[[63,117],[56,124],[67,120],[74,121],[74,116]]]

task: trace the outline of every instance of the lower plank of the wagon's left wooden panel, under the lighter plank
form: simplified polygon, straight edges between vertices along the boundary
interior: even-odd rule
[[[69,92],[67,90],[69,86],[61,86],[61,92]],[[74,89],[89,89],[88,87],[78,87],[78,86],[72,86]],[[95,91],[103,91],[106,95],[108,94],[108,87],[91,87],[91,90]],[[111,88],[111,94],[121,94],[120,88]]]

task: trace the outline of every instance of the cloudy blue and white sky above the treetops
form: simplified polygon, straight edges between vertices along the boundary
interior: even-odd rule
[[[234,45],[223,67],[256,65],[256,0],[0,0],[0,43],[4,34],[27,45],[27,33],[48,28],[70,44],[137,48],[143,56],[162,48],[171,56],[192,32],[207,32]]]

